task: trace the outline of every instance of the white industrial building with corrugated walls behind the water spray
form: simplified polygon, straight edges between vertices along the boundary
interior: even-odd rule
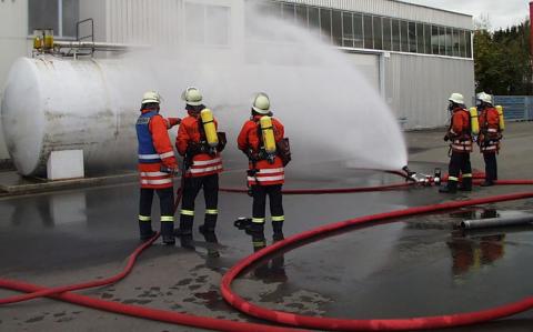
[[[90,40],[109,43],[194,42],[223,53],[249,38],[251,3],[258,1],[4,0],[0,2],[0,84],[17,58],[31,56],[34,29],[53,29],[56,40],[89,34]],[[259,6],[264,7],[262,13],[299,22],[345,52],[404,129],[444,125],[451,92],[473,99],[471,16],[393,0],[263,1]],[[217,24],[205,19],[212,16]],[[83,26],[77,31],[77,22],[86,19],[93,19],[93,32]],[[169,24],[177,31],[165,32]],[[0,160],[8,159],[2,139]]]

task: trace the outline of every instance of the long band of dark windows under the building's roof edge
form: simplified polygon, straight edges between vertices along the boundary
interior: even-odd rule
[[[296,21],[340,47],[472,58],[467,30],[286,1],[270,3],[261,11]]]

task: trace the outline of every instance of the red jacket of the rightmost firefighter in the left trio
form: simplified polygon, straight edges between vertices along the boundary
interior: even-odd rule
[[[244,122],[239,138],[237,140],[239,150],[248,153],[251,149],[255,154],[259,154],[261,149],[261,138],[259,137],[258,121],[261,119],[261,115],[257,115],[247,122]],[[278,120],[272,118],[272,125],[274,128],[274,140],[278,143],[284,137],[284,127]],[[273,185],[273,184],[283,184],[285,181],[285,170],[283,168],[283,162],[280,157],[274,158],[274,162],[270,163],[266,160],[259,160],[255,163],[250,162],[249,169],[258,170],[254,177],[248,177],[248,183],[250,185],[259,184],[261,185]]]

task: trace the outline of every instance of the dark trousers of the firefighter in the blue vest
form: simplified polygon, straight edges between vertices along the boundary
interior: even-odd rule
[[[174,191],[172,188],[148,189],[141,188],[139,200],[139,230],[141,240],[147,240],[153,235],[152,231],[152,201],[153,192],[159,197],[161,209],[161,237],[163,242],[172,242],[174,239]]]

